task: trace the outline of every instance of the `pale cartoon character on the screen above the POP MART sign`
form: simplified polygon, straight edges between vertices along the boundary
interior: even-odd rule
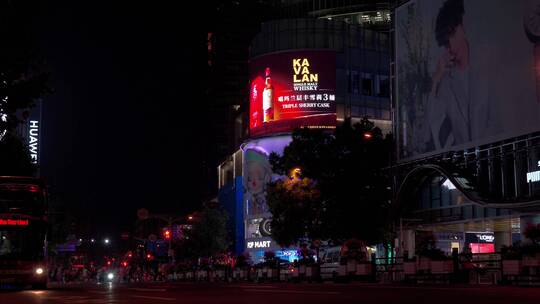
[[[244,180],[248,214],[268,212],[266,205],[266,185],[272,179],[272,169],[266,154],[257,150],[247,150],[244,154],[246,176]]]

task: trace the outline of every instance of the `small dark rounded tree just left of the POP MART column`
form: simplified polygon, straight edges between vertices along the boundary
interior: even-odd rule
[[[215,208],[206,208],[185,232],[184,240],[178,244],[180,257],[188,259],[210,258],[229,247],[227,239],[227,214]]]

